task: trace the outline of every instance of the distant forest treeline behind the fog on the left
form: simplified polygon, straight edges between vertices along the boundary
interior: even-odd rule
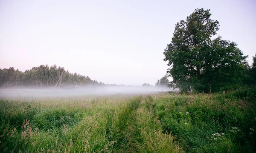
[[[62,75],[62,77],[61,77]],[[15,70],[13,67],[0,69],[0,87],[33,86],[54,87],[58,82],[61,87],[65,86],[100,86],[103,82],[97,82],[88,76],[65,71],[63,67],[53,65],[40,65],[25,72]]]

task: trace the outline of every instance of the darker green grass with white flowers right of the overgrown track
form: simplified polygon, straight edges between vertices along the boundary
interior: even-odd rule
[[[186,152],[254,152],[256,104],[252,93],[255,89],[156,96],[155,110],[163,130],[177,136],[176,142]]]

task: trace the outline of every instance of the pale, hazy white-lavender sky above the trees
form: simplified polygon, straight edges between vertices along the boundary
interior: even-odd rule
[[[255,55],[256,0],[0,0],[0,68],[41,64],[105,83],[155,84],[175,24],[211,9],[224,40]]]

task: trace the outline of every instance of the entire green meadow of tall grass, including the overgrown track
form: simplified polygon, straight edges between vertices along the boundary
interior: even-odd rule
[[[0,151],[250,153],[255,89],[0,101]]]

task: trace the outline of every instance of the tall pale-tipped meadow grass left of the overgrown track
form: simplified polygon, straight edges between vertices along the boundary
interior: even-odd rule
[[[109,101],[111,99],[111,101]],[[118,108],[130,97],[0,102],[3,152],[111,152]]]

